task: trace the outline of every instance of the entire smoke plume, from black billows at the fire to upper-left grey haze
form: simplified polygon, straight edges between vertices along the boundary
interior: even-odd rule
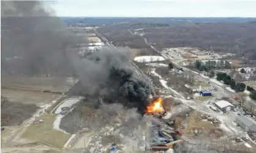
[[[130,49],[104,48],[81,59],[69,47],[86,42],[45,8],[42,1],[1,1],[1,73],[75,74],[81,83],[80,94],[142,109],[151,88],[130,69]]]

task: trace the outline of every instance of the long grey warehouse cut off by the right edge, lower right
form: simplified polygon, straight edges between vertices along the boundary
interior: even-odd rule
[[[237,116],[236,123],[247,132],[256,132],[256,121],[252,118],[244,115]]]

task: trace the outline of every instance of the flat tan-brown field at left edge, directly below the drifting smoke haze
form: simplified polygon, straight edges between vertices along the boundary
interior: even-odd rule
[[[74,83],[74,79],[65,77],[1,76],[1,95],[10,102],[43,105],[59,96],[44,90],[62,93]]]

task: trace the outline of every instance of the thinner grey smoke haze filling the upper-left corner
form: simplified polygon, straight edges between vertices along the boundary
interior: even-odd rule
[[[71,75],[64,49],[80,40],[45,8],[41,1],[1,1],[2,74]]]

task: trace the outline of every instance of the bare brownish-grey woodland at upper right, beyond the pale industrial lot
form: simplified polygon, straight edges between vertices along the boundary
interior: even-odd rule
[[[256,59],[256,23],[199,23],[186,26],[144,29],[155,47],[192,46],[206,51],[231,52]]]

